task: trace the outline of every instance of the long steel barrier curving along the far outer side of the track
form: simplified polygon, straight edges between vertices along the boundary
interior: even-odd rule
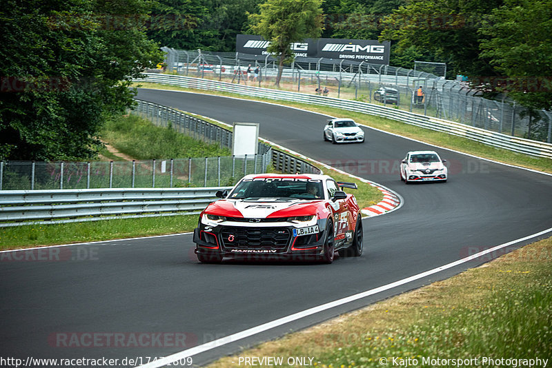
[[[189,76],[146,73],[145,79],[137,79],[137,82],[152,82],[168,85],[178,85],[184,88],[193,88],[197,90],[210,90],[221,92],[232,92],[245,96],[260,97],[264,99],[275,99],[282,101],[294,101],[309,103],[312,105],[322,105],[331,108],[341,108],[355,112],[362,112],[375,116],[382,116],[388,119],[402,121],[403,123],[425,127],[431,130],[446,132],[455,136],[463,136],[466,139],[478,141],[493,147],[500,147],[513,152],[529,154],[531,156],[546,157],[552,159],[552,144],[531,141],[529,139],[517,138],[506,134],[491,132],[478,127],[471,127],[454,121],[437,119],[431,116],[424,116],[387,108],[385,106],[373,105],[361,101],[352,101],[344,99],[335,99],[328,96],[319,96],[316,94],[305,94],[299,92],[290,92],[282,90],[271,90],[269,88],[259,88],[250,85],[238,85],[213,81],[209,79],[199,79]]]

